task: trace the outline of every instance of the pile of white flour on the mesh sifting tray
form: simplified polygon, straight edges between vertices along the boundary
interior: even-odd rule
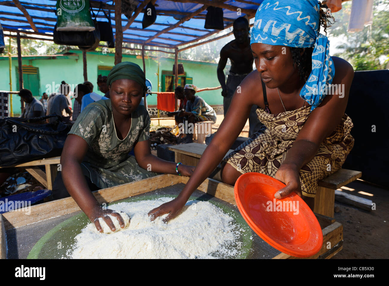
[[[223,256],[239,253],[239,227],[233,218],[216,205],[190,201],[183,212],[168,223],[162,219],[150,221],[147,213],[172,198],[123,202],[109,209],[125,212],[130,225],[119,232],[98,233],[90,223],[75,237],[70,258],[212,258],[217,251]],[[240,247],[239,247],[240,248]]]

